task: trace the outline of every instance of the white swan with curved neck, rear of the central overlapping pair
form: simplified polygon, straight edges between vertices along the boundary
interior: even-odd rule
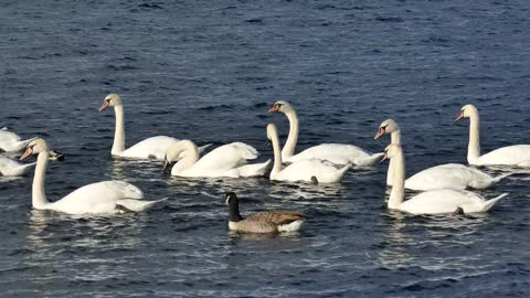
[[[371,166],[383,156],[383,153],[372,155],[362,148],[344,143],[321,143],[295,155],[295,147],[298,141],[298,117],[295,109],[288,102],[279,100],[268,111],[282,111],[289,119],[289,136],[282,150],[282,160],[286,163],[316,158],[328,160],[336,164]]]

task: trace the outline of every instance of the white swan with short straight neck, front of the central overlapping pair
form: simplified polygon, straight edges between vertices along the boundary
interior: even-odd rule
[[[267,138],[273,143],[274,150],[274,166],[271,171],[271,180],[333,183],[342,180],[344,173],[352,166],[348,163],[338,169],[333,163],[326,160],[304,159],[284,168],[282,166],[278,132],[274,124],[267,125]]]

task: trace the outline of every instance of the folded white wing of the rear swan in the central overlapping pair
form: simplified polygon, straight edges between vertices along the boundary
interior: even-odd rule
[[[305,159],[328,160],[336,164],[356,163],[357,160],[367,159],[371,156],[364,149],[344,143],[321,143],[307,148],[306,150],[295,155],[284,162],[295,162]]]

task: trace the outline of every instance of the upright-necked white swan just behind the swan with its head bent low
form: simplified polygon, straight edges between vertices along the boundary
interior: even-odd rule
[[[109,94],[103,100],[99,111],[107,107],[114,107],[116,115],[116,130],[114,132],[114,143],[110,153],[113,156],[131,158],[131,159],[157,159],[163,160],[163,156],[169,147],[177,143],[179,140],[167,136],[157,136],[145,139],[127,150],[125,149],[125,125],[124,125],[124,106],[121,98],[117,94]],[[200,151],[208,148],[210,145],[199,148]]]

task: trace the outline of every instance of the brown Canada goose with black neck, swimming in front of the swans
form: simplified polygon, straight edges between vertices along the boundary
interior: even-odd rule
[[[294,232],[300,230],[305,221],[304,214],[297,211],[258,212],[243,219],[235,193],[227,192],[224,200],[230,205],[229,227],[233,231],[245,233]]]

